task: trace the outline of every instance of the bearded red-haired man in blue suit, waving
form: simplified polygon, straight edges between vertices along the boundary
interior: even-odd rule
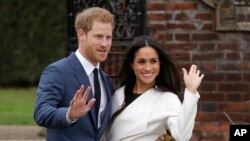
[[[47,141],[99,141],[110,121],[112,82],[100,62],[111,48],[113,16],[105,9],[89,8],[76,16],[75,28],[77,51],[50,64],[37,89],[34,119],[47,128]]]

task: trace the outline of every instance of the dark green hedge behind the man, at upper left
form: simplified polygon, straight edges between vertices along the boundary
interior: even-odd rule
[[[0,1],[0,87],[30,86],[67,52],[65,0]]]

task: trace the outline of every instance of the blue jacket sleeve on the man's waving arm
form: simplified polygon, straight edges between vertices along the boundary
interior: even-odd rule
[[[34,119],[38,125],[47,128],[68,127],[67,107],[59,107],[63,99],[64,87],[62,75],[55,66],[48,66],[42,73],[37,88]]]

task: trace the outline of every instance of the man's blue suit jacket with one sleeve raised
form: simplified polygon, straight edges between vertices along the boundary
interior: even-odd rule
[[[37,88],[34,119],[40,126],[47,128],[47,141],[99,141],[103,130],[110,122],[112,82],[110,77],[100,71],[107,93],[107,105],[98,129],[95,106],[70,124],[66,113],[80,85],[90,86],[89,78],[75,53],[49,65],[42,73]],[[93,94],[89,95],[89,99]]]

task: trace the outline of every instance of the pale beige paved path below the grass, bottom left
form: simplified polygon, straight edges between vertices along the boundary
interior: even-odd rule
[[[45,141],[42,127],[0,125],[0,141]]]

